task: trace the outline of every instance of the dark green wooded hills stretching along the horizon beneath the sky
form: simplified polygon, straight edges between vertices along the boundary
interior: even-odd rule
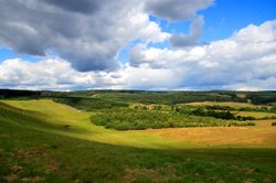
[[[276,92],[145,92],[145,90],[81,90],[35,92],[0,89],[0,98],[99,98],[123,103],[176,105],[193,101],[251,101],[255,105],[275,105]]]

